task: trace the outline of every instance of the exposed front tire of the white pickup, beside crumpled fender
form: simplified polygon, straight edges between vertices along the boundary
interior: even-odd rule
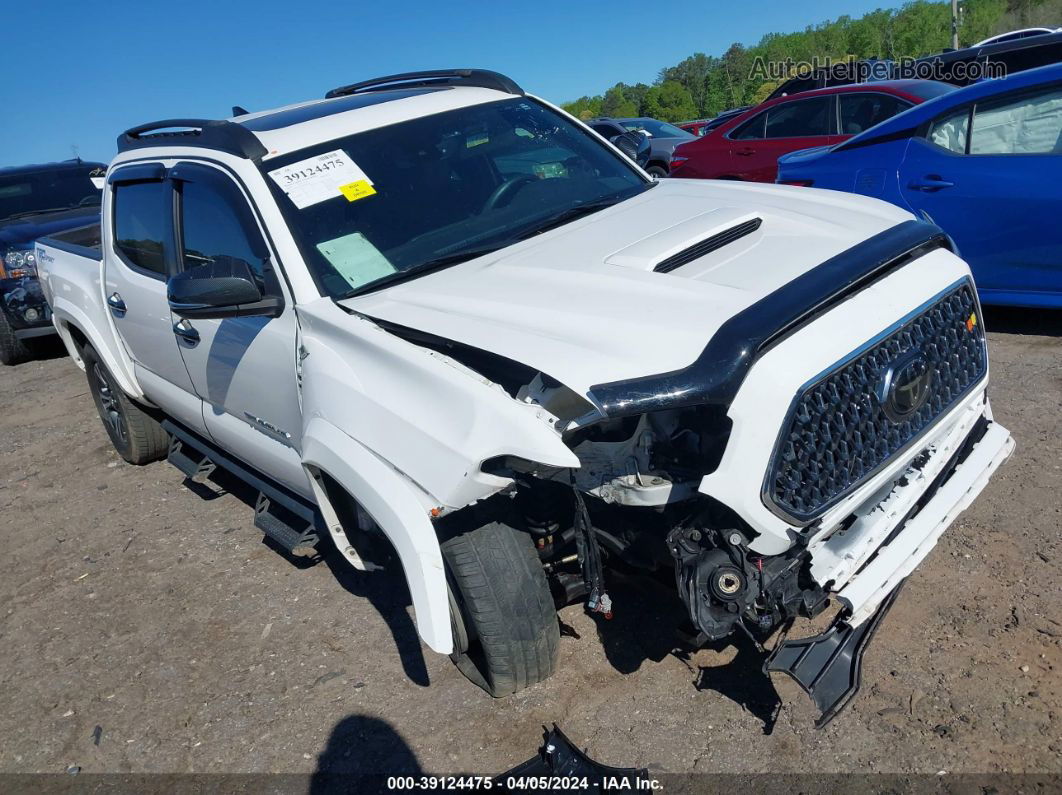
[[[442,545],[450,584],[451,658],[495,697],[548,679],[561,633],[527,533],[491,523]]]

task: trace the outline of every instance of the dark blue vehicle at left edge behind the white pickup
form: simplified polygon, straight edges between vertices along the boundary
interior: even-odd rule
[[[0,363],[31,358],[27,340],[55,332],[34,241],[96,223],[106,171],[84,160],[0,169]]]

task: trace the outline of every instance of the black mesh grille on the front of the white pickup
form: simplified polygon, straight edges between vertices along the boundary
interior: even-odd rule
[[[964,282],[884,340],[807,386],[780,437],[765,496],[807,521],[851,492],[955,405],[988,366],[974,290]],[[921,356],[920,356],[921,351]],[[921,408],[890,419],[883,385],[896,363],[918,360],[931,380]],[[895,404],[890,404],[896,416]]]

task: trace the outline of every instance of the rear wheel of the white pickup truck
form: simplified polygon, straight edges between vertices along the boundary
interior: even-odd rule
[[[164,457],[170,448],[170,435],[162,426],[130,400],[90,345],[82,349],[81,359],[96,411],[118,454],[137,465]]]

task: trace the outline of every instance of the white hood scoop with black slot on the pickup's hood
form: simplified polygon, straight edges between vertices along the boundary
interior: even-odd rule
[[[609,255],[605,263],[638,271],[670,273],[756,231],[755,211],[719,207],[661,229]]]

